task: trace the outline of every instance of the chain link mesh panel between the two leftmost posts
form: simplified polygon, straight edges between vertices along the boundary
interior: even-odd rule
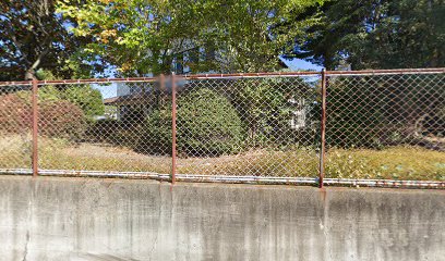
[[[170,173],[170,123],[151,117],[169,99],[155,82],[39,86],[39,169]]]

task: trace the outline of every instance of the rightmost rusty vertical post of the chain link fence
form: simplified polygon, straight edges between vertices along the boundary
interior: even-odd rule
[[[322,120],[321,120],[321,148],[320,148],[320,173],[318,187],[323,188],[326,157],[326,70],[322,70]]]

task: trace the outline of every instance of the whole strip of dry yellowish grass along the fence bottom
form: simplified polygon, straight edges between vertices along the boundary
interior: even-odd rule
[[[0,137],[0,169],[31,167],[31,137]],[[318,161],[318,154],[310,149],[251,150],[217,158],[180,158],[178,172],[314,177]],[[39,138],[39,167],[170,173],[171,158],[141,154],[104,144],[74,145],[62,139]],[[445,181],[445,152],[419,147],[332,149],[326,154],[326,177]]]

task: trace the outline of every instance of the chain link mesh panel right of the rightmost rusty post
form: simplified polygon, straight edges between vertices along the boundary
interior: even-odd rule
[[[444,74],[332,75],[326,177],[444,179]]]

